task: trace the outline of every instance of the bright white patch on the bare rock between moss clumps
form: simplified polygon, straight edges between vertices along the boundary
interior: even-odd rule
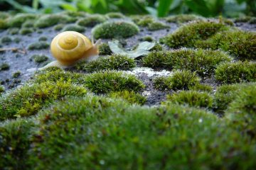
[[[161,77],[161,76],[169,76],[172,74],[172,72],[167,71],[166,69],[161,70],[160,72],[154,71],[154,69],[151,69],[149,67],[136,67],[132,69],[131,71],[127,71],[129,74],[147,74],[148,77]]]

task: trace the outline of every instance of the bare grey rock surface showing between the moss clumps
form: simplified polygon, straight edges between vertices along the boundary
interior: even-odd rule
[[[179,25],[176,23],[166,23],[166,25],[169,25],[170,28],[156,31],[149,31],[147,30],[147,28],[141,28],[140,32],[137,35],[134,35],[131,38],[127,38],[125,40],[125,42],[127,42],[127,45],[125,45],[124,47],[127,48],[127,50],[132,49],[134,45],[138,44],[138,42],[140,41],[139,39],[146,35],[151,35],[151,37],[155,40],[159,40],[159,38],[173,33],[179,27]],[[242,30],[256,31],[256,24],[235,23],[235,26]],[[33,42],[38,42],[38,39],[42,36],[48,38],[46,42],[50,44],[51,40],[55,37],[55,35],[61,32],[54,30],[53,27],[40,30],[41,33],[38,33],[37,30],[30,35],[9,35],[7,30],[1,31],[0,37],[9,35],[11,36],[12,40],[14,40],[14,38],[21,39],[21,41],[18,43],[12,41],[9,44],[4,44],[3,48],[18,48],[22,52],[13,52],[11,50],[0,52],[0,64],[7,63],[10,65],[9,70],[0,71],[0,82],[2,85],[5,86],[6,89],[14,89],[16,86],[24,84],[26,81],[28,81],[28,79],[33,76],[34,72],[36,72],[38,68],[43,67],[45,64],[47,64],[46,62],[37,64],[36,62],[30,60],[31,56],[46,55],[49,57],[48,62],[54,60],[53,56],[50,54],[50,48],[48,48],[47,50],[28,50],[28,45]],[[88,38],[91,38],[91,30],[92,28],[87,28],[83,34],[85,34]],[[110,39],[102,40],[102,42],[107,41],[110,41]],[[165,48],[168,49],[167,47]],[[150,68],[140,67],[142,67],[141,64],[137,64],[137,67],[132,71],[128,71],[128,73],[135,74],[146,85],[146,88],[144,89],[144,91],[142,91],[142,94],[148,98],[146,101],[146,105],[158,105],[159,103],[161,103],[161,101],[164,101],[164,99],[166,98],[166,94],[171,94],[173,93],[173,91],[159,91],[154,89],[152,79],[157,76],[169,75],[171,74],[171,72],[168,72],[166,70],[153,70]],[[14,79],[12,77],[12,74],[17,71],[21,72],[21,76]],[[73,71],[76,72],[75,70]],[[217,82],[215,82],[214,78],[202,80],[202,83],[210,84],[211,86],[213,86],[213,89],[215,89],[215,86],[218,85]]]

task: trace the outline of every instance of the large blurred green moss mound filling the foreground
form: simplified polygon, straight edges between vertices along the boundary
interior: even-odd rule
[[[129,106],[86,96],[56,103],[39,122],[42,128],[35,134],[28,159],[35,169],[255,166],[255,142],[198,108]]]

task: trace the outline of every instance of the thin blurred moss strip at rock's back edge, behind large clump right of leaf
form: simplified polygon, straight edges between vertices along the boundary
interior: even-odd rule
[[[201,21],[203,18],[193,14],[181,14],[164,18],[168,23],[188,23],[190,21]]]

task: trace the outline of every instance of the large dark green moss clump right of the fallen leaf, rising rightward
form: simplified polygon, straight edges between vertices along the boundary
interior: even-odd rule
[[[195,47],[198,40],[206,40],[222,30],[229,27],[224,23],[216,21],[197,21],[181,26],[174,33],[161,39],[166,45],[172,48]]]

